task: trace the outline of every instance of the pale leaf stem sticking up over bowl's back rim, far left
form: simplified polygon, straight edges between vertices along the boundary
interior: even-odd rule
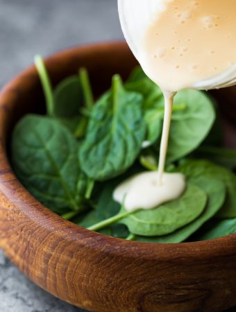
[[[47,73],[47,69],[44,64],[44,60],[40,55],[35,55],[35,67],[37,69],[38,75],[40,76],[42,89],[44,90],[44,96],[47,106],[47,114],[48,116],[53,116],[53,107],[54,107],[53,88],[51,85],[49,74]]]

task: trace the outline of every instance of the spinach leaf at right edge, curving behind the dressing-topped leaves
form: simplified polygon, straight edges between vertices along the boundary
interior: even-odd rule
[[[208,175],[222,181],[226,185],[226,201],[217,213],[217,217],[236,218],[236,176],[231,171],[206,160],[187,160],[178,171],[190,178]]]

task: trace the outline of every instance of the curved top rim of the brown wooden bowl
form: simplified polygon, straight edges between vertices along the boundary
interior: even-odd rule
[[[74,53],[83,51],[86,53],[96,53],[98,49],[103,51],[104,46],[106,49],[120,49],[121,51],[127,51],[128,47],[125,42],[116,41],[116,42],[100,42],[95,44],[86,44],[83,46],[75,46],[70,49],[63,49],[57,53],[53,53],[47,58],[44,58],[45,62],[49,64],[55,60],[59,61],[62,58],[69,58]],[[50,211],[47,207],[44,207],[40,202],[38,202],[17,180],[15,173],[12,171],[8,156],[6,153],[6,138],[4,137],[4,130],[6,128],[6,121],[9,116],[9,106],[11,103],[14,103],[15,96],[12,96],[12,93],[16,89],[21,89],[24,81],[29,78],[36,78],[37,71],[35,66],[31,65],[28,69],[19,73],[15,78],[13,78],[10,83],[6,84],[0,92],[0,191],[10,200],[12,205],[17,205],[20,209],[21,205],[24,203],[24,210],[22,214],[26,218],[31,218],[34,222],[38,223],[41,219],[47,219],[47,223],[44,224],[44,229],[48,232],[55,231],[56,227],[59,229],[58,225],[63,228],[63,232],[56,232],[60,237],[65,236],[69,241],[79,242],[80,245],[86,245],[91,248],[103,248],[109,245],[109,253],[112,254],[124,254],[129,258],[137,258],[137,251],[140,254],[140,257],[146,259],[167,259],[167,255],[170,254],[173,249],[182,255],[189,254],[189,250],[195,250],[194,259],[203,259],[208,258],[214,254],[233,254],[235,252],[235,241],[236,234],[231,234],[229,236],[224,236],[219,239],[212,239],[208,241],[195,241],[187,243],[144,243],[140,241],[126,241],[124,239],[117,239],[113,236],[107,236],[104,234],[99,234],[92,232],[88,229],[80,227],[74,223],[71,223],[68,220],[62,219],[60,216],[55,214],[53,211]],[[3,122],[1,122],[3,121]],[[13,191],[12,191],[13,190]],[[23,202],[19,202],[17,196],[24,194]],[[1,207],[0,207],[1,210]],[[67,235],[67,232],[69,235]],[[96,245],[99,244],[99,245]],[[152,250],[152,254],[149,256],[149,250]],[[135,250],[135,253],[133,252]],[[175,252],[175,253],[176,253]],[[155,255],[155,257],[154,257]]]

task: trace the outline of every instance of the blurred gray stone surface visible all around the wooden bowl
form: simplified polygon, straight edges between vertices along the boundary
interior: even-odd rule
[[[0,86],[36,53],[122,38],[116,0],[0,0]],[[0,312],[79,312],[28,281],[0,251]]]

